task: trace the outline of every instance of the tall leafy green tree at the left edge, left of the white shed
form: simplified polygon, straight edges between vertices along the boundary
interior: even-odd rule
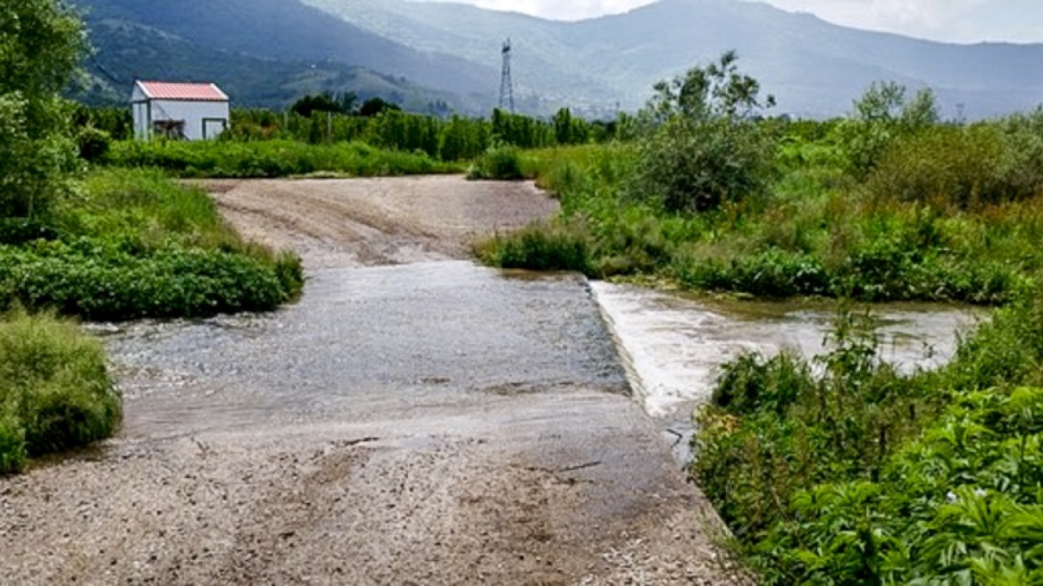
[[[87,38],[60,0],[0,0],[0,217],[32,217],[76,164],[69,84]]]

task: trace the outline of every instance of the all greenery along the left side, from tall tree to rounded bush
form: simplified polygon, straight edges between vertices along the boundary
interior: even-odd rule
[[[66,4],[0,7],[0,474],[111,436],[121,397],[75,319],[204,317],[294,298],[299,261],[242,241],[201,190],[110,152],[59,92],[87,50]],[[107,117],[107,118],[106,118]],[[75,122],[80,122],[76,126]]]

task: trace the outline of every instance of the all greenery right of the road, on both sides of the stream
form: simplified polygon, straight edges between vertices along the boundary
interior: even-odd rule
[[[1043,583],[1043,109],[940,120],[867,90],[770,118],[734,55],[656,88],[637,140],[518,154],[552,222],[504,267],[842,301],[829,353],[743,356],[698,413],[693,480],[765,584]],[[857,301],[996,306],[951,364],[880,361]]]

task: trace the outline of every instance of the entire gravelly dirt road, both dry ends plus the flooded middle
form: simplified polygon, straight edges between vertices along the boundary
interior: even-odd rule
[[[301,252],[304,298],[98,327],[125,429],[0,480],[0,583],[733,583],[587,284],[460,260],[553,200],[455,177],[211,187]]]

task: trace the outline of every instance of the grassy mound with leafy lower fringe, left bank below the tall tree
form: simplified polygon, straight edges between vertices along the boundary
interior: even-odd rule
[[[100,170],[46,218],[0,226],[0,299],[94,320],[272,310],[299,261],[243,242],[201,190]]]

